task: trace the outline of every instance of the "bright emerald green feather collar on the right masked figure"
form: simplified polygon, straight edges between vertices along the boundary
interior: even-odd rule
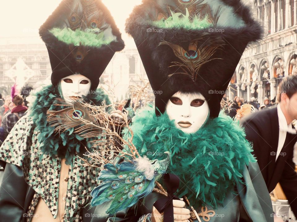
[[[256,162],[243,129],[223,113],[209,119],[195,134],[185,134],[166,113],[156,116],[150,106],[136,114],[131,129],[141,155],[163,159],[162,154],[170,151],[168,173],[181,180],[177,195],[186,195],[196,208],[222,205],[235,184],[243,183],[244,165]]]

